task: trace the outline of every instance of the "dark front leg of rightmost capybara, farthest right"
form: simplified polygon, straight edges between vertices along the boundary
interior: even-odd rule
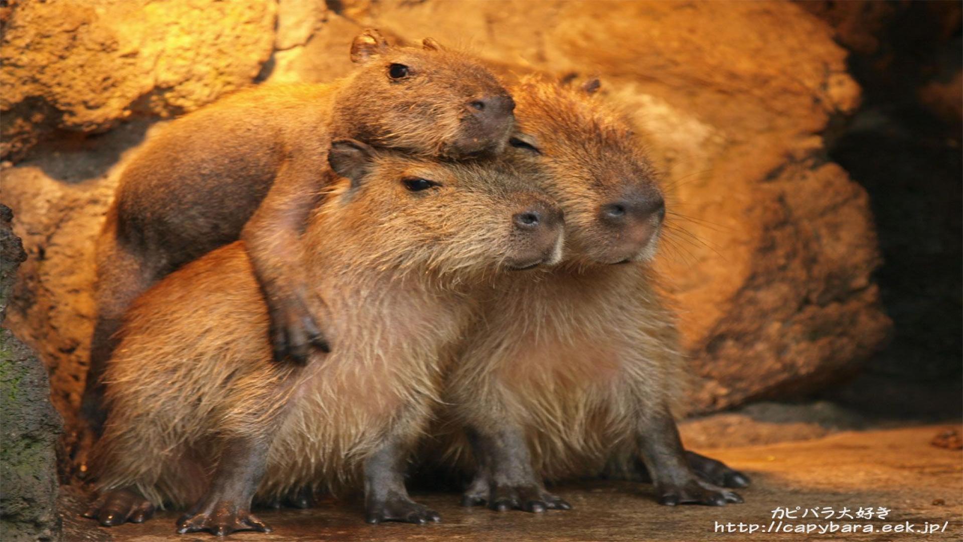
[[[735,492],[704,481],[692,472],[675,420],[667,410],[646,418],[641,425],[642,461],[653,478],[661,504],[721,506],[742,502],[742,497]]]

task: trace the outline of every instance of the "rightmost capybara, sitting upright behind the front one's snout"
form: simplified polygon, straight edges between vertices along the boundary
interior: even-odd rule
[[[482,304],[446,384],[450,444],[435,455],[477,466],[466,505],[567,508],[543,480],[598,474],[648,476],[664,504],[740,502],[719,486],[748,478],[681,445],[685,359],[651,268],[664,195],[631,123],[595,89],[510,87],[510,159],[541,170],[533,178],[565,215],[565,256],[502,277]]]

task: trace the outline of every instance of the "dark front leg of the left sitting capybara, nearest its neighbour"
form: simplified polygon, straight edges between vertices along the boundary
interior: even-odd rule
[[[430,510],[408,497],[404,487],[404,447],[389,442],[364,462],[364,507],[368,523],[405,522],[424,524],[441,520]]]

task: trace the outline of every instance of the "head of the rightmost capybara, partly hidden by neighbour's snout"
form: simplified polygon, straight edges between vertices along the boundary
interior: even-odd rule
[[[543,172],[540,186],[565,213],[567,259],[645,261],[665,215],[654,168],[630,123],[594,94],[597,81],[562,87],[535,77],[513,88],[517,129],[509,159]]]

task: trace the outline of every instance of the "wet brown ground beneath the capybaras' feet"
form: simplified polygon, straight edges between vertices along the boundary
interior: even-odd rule
[[[230,540],[963,540],[963,451],[935,447],[930,441],[947,425],[845,432],[804,442],[768,446],[703,449],[750,474],[745,502],[725,507],[660,506],[651,488],[626,482],[590,480],[556,491],[574,505],[544,514],[462,508],[454,493],[416,494],[442,515],[427,526],[362,521],[359,503],[326,502],[308,510],[259,512],[274,531],[241,532]],[[957,427],[958,431],[963,429]],[[194,542],[209,534],[177,535],[176,512],[163,512],[143,525],[99,528],[77,517],[81,500],[67,494],[65,540]],[[777,507],[795,519],[773,519]],[[798,510],[796,510],[798,507]],[[889,510],[876,517],[880,508]],[[818,518],[813,508],[817,508]],[[872,519],[858,511],[872,508]],[[803,510],[808,510],[803,512]],[[778,515],[779,512],[777,512]],[[803,518],[803,514],[807,517]],[[830,520],[828,515],[832,516]],[[852,519],[846,517],[852,516]],[[837,516],[842,518],[837,519]],[[780,521],[782,522],[780,524]],[[731,524],[733,532],[721,529]],[[749,533],[739,531],[759,526]],[[772,528],[807,528],[774,532]],[[936,526],[935,532],[923,534]],[[789,526],[789,527],[787,527]],[[797,527],[801,526],[801,527]],[[835,528],[835,532],[828,529]],[[848,526],[848,527],[847,527]],[[859,532],[845,532],[860,526]],[[863,532],[871,526],[872,532]],[[912,532],[901,532],[912,526]],[[826,528],[820,534],[820,528]],[[891,529],[884,531],[884,529]],[[767,531],[767,529],[770,529]]]

